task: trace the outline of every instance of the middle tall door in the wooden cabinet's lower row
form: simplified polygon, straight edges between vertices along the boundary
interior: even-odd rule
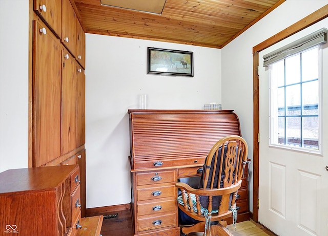
[[[61,155],[76,147],[76,61],[67,50],[63,52],[61,67]]]

